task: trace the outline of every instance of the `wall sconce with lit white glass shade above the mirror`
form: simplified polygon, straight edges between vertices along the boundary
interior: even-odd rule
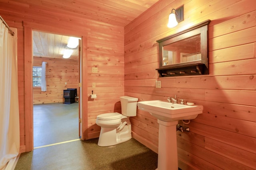
[[[184,6],[181,6],[177,10],[172,9],[172,13],[169,14],[169,20],[167,27],[173,28],[178,25],[179,22],[184,20]]]

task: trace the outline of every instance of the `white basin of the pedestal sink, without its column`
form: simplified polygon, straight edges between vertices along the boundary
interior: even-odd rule
[[[162,100],[138,102],[138,109],[148,111],[151,115],[162,121],[178,121],[195,119],[202,113],[203,106],[173,104]]]

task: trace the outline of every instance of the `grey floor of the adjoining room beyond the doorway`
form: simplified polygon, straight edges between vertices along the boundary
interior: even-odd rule
[[[34,105],[34,147],[79,139],[78,103]]]

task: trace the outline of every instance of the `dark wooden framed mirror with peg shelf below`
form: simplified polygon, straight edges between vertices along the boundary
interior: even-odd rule
[[[208,74],[208,24],[198,23],[157,40],[160,77]]]

